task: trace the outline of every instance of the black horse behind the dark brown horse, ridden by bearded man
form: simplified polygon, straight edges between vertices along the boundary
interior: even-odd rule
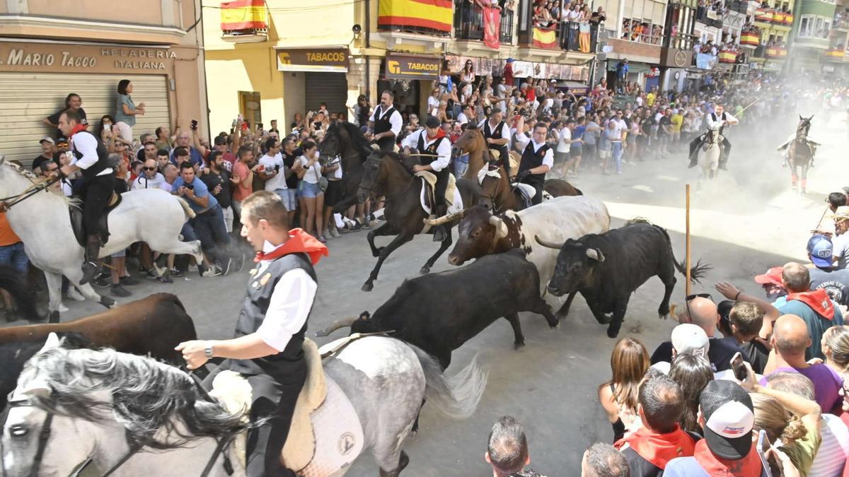
[[[338,121],[328,127],[322,143],[318,145],[318,160],[326,164],[336,156],[341,157],[343,197],[334,206],[334,213],[344,214],[348,207],[357,204],[357,188],[363,178],[363,163],[371,153],[368,139],[356,124]],[[357,220],[365,222],[362,216],[358,216]]]

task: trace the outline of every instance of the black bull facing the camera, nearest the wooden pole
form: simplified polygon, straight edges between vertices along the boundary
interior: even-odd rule
[[[538,238],[537,242],[560,250],[548,283],[551,294],[570,294],[560,317],[569,312],[572,298],[580,292],[595,319],[610,323],[610,338],[619,334],[631,294],[655,275],[666,287],[657,310],[658,315],[666,317],[676,283],[675,270],[685,273],[683,264],[675,260],[669,234],[648,222],[629,222],[625,227],[569,239],[565,244],[548,244]],[[691,268],[690,279],[697,282],[710,268],[700,262]]]

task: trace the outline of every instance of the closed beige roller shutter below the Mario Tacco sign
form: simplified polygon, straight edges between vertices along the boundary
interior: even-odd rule
[[[68,93],[80,95],[89,131],[98,131],[101,116],[115,115],[118,81],[125,78],[132,81],[133,101],[147,106],[145,115],[136,117],[133,135],[138,138],[167,126],[171,120],[166,76],[0,72],[0,154],[25,165],[41,154],[38,141],[58,134],[42,120],[64,106]]]

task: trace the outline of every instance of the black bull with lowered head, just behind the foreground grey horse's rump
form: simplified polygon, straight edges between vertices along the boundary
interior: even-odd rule
[[[521,250],[510,250],[457,270],[405,280],[374,316],[364,312],[359,318],[342,319],[317,335],[345,326],[351,326],[352,334],[386,332],[436,357],[445,369],[451,351],[500,317],[513,327],[515,347],[524,345],[520,311],[543,315],[552,328],[558,324],[539,296],[537,267]]]

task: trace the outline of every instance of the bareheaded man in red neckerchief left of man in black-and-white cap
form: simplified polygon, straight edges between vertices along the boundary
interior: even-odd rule
[[[641,425],[614,446],[628,461],[631,475],[656,477],[675,457],[692,456],[699,435],[678,425],[684,410],[681,387],[664,374],[655,374],[639,385],[637,412]]]

